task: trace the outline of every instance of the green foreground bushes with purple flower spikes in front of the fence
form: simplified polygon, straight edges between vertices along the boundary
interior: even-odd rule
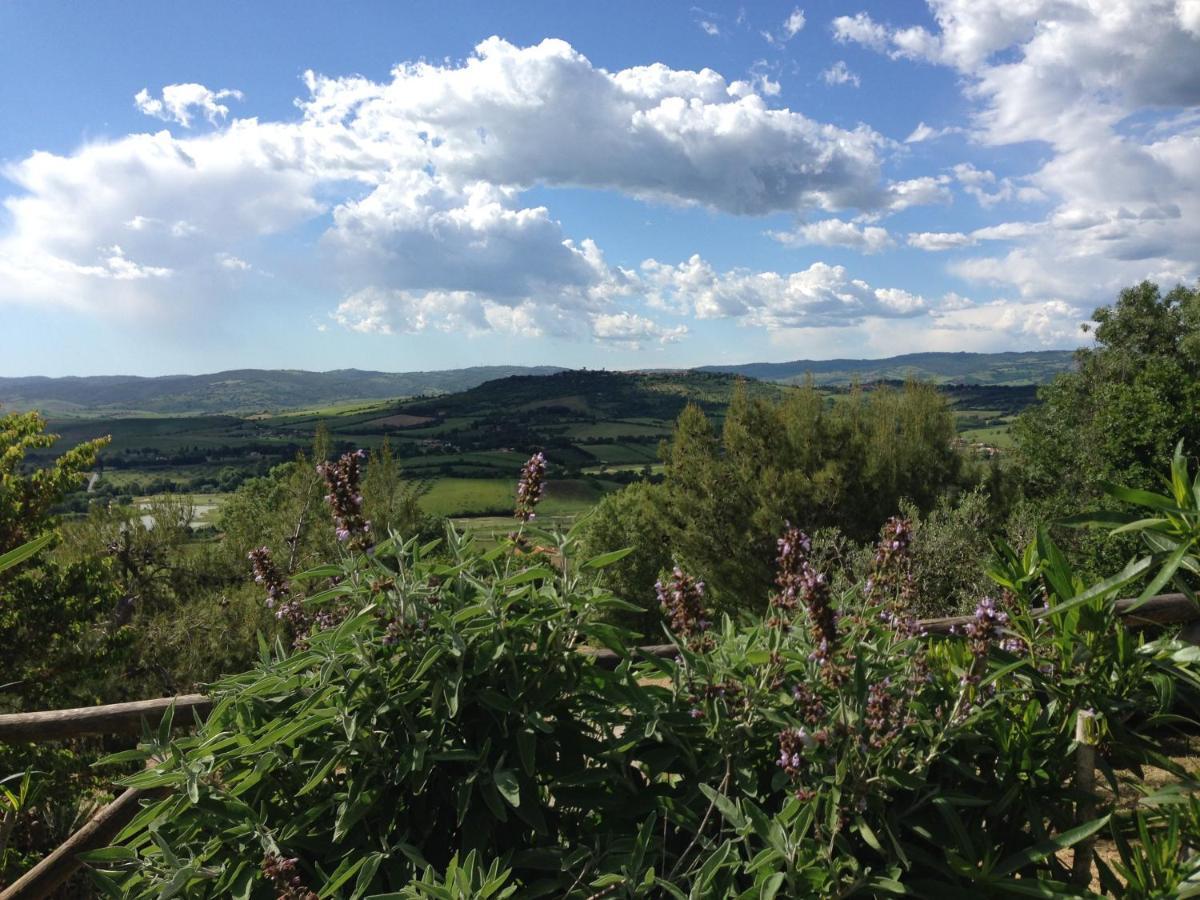
[[[120,898],[274,896],[281,866],[290,896],[1069,896],[1058,851],[1105,827],[1129,845],[1105,877],[1190,877],[1133,848],[1162,820],[1074,812],[1079,710],[1105,767],[1175,768],[1150,734],[1198,655],[1114,606],[1154,557],[1087,584],[1042,530],[1001,547],[962,635],[925,636],[910,536],[889,522],[869,581],[834,593],[788,529],[757,620],[710,624],[677,572],[676,660],[628,654],[588,577],[622,553],[580,564],[570,533],[344,556],[293,580],[316,623],[296,649],[216,684],[194,737],[166,721],[112,757],[170,793],[97,877]]]

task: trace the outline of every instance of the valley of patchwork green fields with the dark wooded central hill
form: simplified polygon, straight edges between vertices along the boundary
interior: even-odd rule
[[[112,436],[101,454],[96,497],[181,492],[220,498],[247,478],[307,452],[318,427],[334,452],[391,445],[406,476],[420,485],[421,506],[450,517],[505,516],[517,473],[529,454],[551,462],[547,516],[576,516],[606,492],[660,475],[659,444],[689,402],[716,427],[737,384],[779,398],[794,388],[702,372],[560,372],[487,382],[460,394],[408,401],[330,402],[282,415],[140,415],[52,419],[60,446]],[[847,388],[823,389],[828,403]],[[1015,413],[1034,401],[1032,388],[942,388],[961,439],[1006,450]],[[48,461],[50,452],[31,457]],[[200,523],[216,506],[205,502]]]

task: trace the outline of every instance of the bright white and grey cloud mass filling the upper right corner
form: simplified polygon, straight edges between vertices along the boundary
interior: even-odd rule
[[[1194,0],[929,0],[936,29],[840,17],[839,40],[954,68],[985,144],[1042,142],[1021,178],[967,167],[980,205],[1044,203],[1004,257],[956,265],[1022,296],[1084,299],[1200,274],[1200,32]],[[1130,125],[1130,122],[1136,122]],[[912,140],[929,139],[918,130]],[[1170,204],[1177,217],[1144,215]],[[976,239],[995,239],[977,233]]]

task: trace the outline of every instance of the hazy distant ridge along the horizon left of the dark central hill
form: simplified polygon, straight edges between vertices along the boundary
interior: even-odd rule
[[[0,404],[49,415],[259,413],[365,400],[455,394],[512,374],[558,366],[473,366],[439,372],[334,372],[240,368],[202,376],[0,378]]]

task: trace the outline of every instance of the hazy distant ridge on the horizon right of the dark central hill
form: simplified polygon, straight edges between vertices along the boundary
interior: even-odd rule
[[[937,384],[1045,384],[1074,366],[1073,350],[1031,353],[908,353],[887,359],[794,360],[702,366],[766,382],[799,384],[809,374],[817,384],[848,384],[916,377]]]

